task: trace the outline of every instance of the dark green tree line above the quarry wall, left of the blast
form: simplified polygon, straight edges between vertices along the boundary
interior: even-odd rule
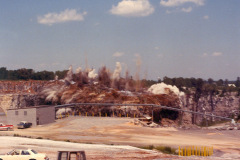
[[[56,76],[63,79],[68,70],[63,71],[38,71],[33,69],[21,68],[17,70],[7,70],[6,67],[0,68],[0,80],[54,80]]]

